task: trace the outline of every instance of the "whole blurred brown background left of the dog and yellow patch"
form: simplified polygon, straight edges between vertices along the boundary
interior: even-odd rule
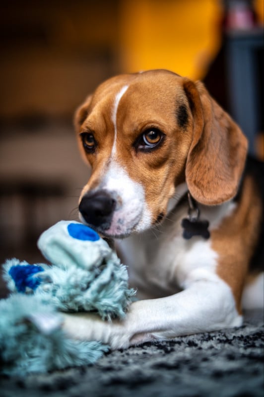
[[[119,1],[20,1],[0,5],[0,262],[42,260],[39,234],[78,219],[90,170],[73,113],[120,71]]]

